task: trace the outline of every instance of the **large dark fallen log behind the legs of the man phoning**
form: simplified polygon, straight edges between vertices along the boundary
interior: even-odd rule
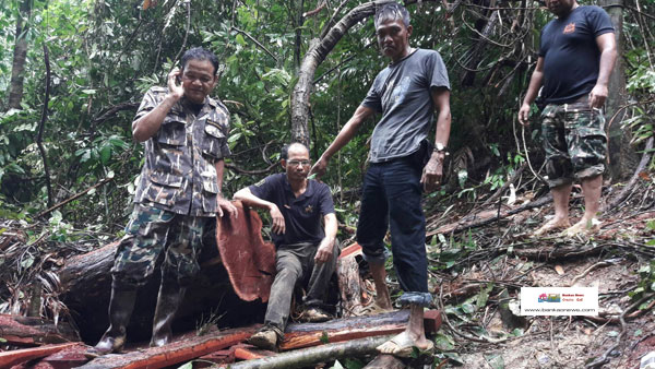
[[[238,209],[240,210],[238,222],[243,225],[240,223],[228,226],[222,224],[222,229],[229,228],[237,233],[251,229],[254,236],[249,237],[261,240],[261,221],[257,213],[250,211],[250,217],[248,217],[245,216],[240,205]],[[236,240],[242,240],[243,237],[243,235],[239,235]],[[174,332],[193,330],[196,325],[202,324],[202,320],[206,322],[207,317],[212,316],[223,316],[219,321],[221,326],[239,326],[263,321],[265,305],[258,297],[265,296],[267,298],[267,289],[263,281],[265,277],[259,278],[258,283],[248,283],[248,281],[253,281],[252,273],[259,273],[260,270],[267,271],[267,277],[271,277],[270,270],[262,266],[264,263],[261,259],[265,258],[253,259],[255,267],[248,269],[248,272],[252,273],[247,275],[250,279],[235,277],[235,281],[245,282],[240,285],[238,293],[242,297],[248,295],[246,296],[248,299],[255,299],[252,302],[243,301],[230,284],[233,275],[229,275],[226,267],[219,262],[216,238],[225,239],[225,233],[217,235],[215,227],[207,229],[203,238],[204,247],[199,257],[201,272],[187,289],[184,301],[176,314]],[[95,344],[109,325],[107,306],[111,290],[110,269],[114,264],[117,246],[118,242],[112,242],[92,252],[73,257],[58,273],[61,281],[60,299],[71,310],[71,316],[74,317],[76,325],[81,329],[82,338],[88,343]],[[238,242],[233,247],[236,250],[241,249],[241,245]],[[274,260],[274,253],[272,258]],[[151,281],[139,290],[134,313],[128,326],[130,342],[150,340],[159,279],[160,272],[157,267]],[[251,286],[250,289],[248,285]],[[253,285],[257,286],[252,287]]]

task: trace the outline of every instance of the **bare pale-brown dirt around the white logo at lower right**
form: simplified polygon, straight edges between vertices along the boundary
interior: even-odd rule
[[[540,269],[535,279],[543,286],[562,286],[595,263],[582,260],[561,264],[564,274],[555,267]],[[553,265],[552,265],[553,266]],[[620,309],[617,291],[636,283],[635,263],[619,262],[590,272],[576,284],[581,287],[598,286],[600,309]],[[623,298],[624,299],[624,298]],[[491,325],[498,324],[498,317]],[[524,335],[507,343],[473,345],[461,356],[464,368],[472,369],[532,369],[584,368],[591,358],[602,356],[616,342],[621,328],[618,324],[594,322],[583,317],[534,317],[527,321]],[[624,338],[617,348],[619,358],[612,358],[607,368],[639,368],[640,358],[655,350],[655,318],[650,311],[626,326]],[[455,367],[455,366],[450,366]]]

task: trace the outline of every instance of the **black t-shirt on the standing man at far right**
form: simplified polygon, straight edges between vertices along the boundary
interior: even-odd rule
[[[600,64],[596,37],[610,32],[614,26],[609,15],[595,5],[577,7],[541,29],[541,93],[547,104],[571,103],[592,92]]]

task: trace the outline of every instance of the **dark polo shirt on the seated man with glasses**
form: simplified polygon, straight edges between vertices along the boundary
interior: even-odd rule
[[[277,205],[284,216],[284,235],[272,234],[275,246],[318,243],[325,237],[321,218],[334,213],[330,187],[310,179],[305,193],[296,198],[286,174],[269,176],[249,187],[255,197]]]

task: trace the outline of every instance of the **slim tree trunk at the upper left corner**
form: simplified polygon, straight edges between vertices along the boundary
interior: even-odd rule
[[[9,108],[20,109],[23,99],[23,81],[25,79],[25,59],[27,58],[27,31],[29,29],[29,14],[32,1],[21,2],[16,17],[16,38],[14,44],[13,62],[11,67],[11,85],[9,87]]]

